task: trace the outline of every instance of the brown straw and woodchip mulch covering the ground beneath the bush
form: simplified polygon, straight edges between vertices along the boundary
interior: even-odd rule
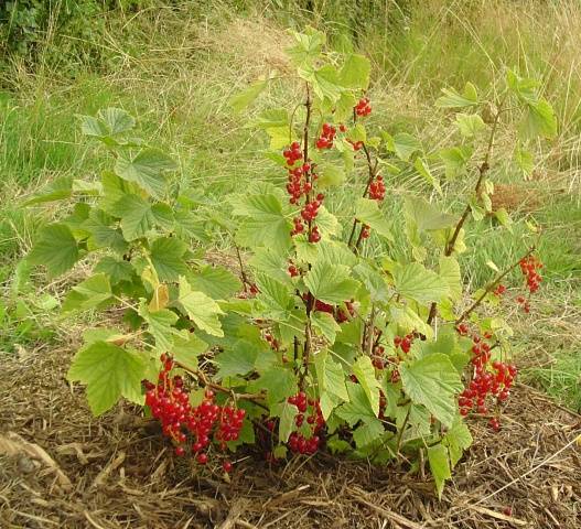
[[[66,349],[3,359],[2,528],[581,528],[581,417],[526,387],[499,433],[471,421],[476,441],[438,501],[429,476],[324,454],[247,457],[227,483],[173,457],[130,407],[92,419],[68,364]]]

